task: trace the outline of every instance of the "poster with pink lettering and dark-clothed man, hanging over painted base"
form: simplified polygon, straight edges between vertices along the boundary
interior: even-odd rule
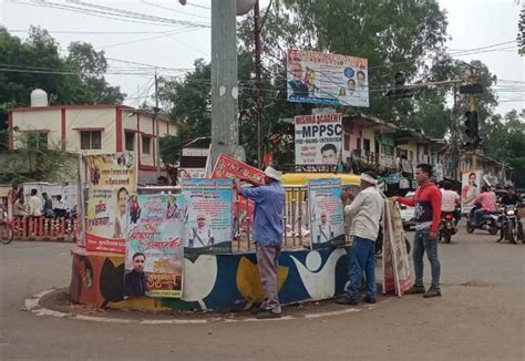
[[[124,296],[181,298],[184,196],[127,196]]]

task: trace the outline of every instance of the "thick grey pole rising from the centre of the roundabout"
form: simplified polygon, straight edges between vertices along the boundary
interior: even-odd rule
[[[245,161],[239,146],[236,0],[212,0],[212,164],[220,153]]]

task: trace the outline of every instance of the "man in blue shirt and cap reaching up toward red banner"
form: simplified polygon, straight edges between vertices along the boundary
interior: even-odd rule
[[[280,318],[282,313],[277,290],[277,270],[285,228],[285,188],[280,184],[280,172],[267,167],[265,175],[264,186],[240,188],[239,182],[236,182],[237,192],[255,203],[254,243],[257,246],[260,281],[266,293],[266,299],[257,310],[259,319]]]

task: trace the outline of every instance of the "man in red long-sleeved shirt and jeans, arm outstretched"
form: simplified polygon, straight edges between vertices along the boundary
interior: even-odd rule
[[[430,182],[432,166],[420,164],[416,166],[415,178],[419,187],[413,198],[392,197],[394,202],[415,207],[415,236],[414,236],[414,272],[415,283],[405,293],[424,293],[425,298],[441,296],[440,272],[441,265],[437,259],[437,229],[441,221],[441,192]],[[425,292],[423,285],[423,255],[426,251],[432,269],[432,285]]]

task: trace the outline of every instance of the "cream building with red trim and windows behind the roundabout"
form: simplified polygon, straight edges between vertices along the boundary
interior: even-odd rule
[[[9,112],[9,148],[61,149],[70,154],[133,152],[138,182],[155,183],[158,138],[175,135],[165,115],[125,105],[55,105],[17,107]]]

